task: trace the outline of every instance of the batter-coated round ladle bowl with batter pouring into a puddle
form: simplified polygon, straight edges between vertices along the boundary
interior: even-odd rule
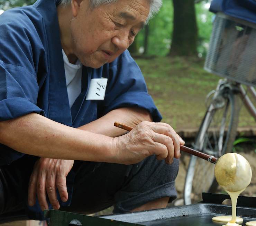
[[[238,221],[236,217],[237,198],[250,184],[252,179],[252,169],[248,161],[236,153],[227,153],[219,158],[214,171],[218,184],[229,194],[232,202],[232,217],[228,216],[213,217],[212,220],[219,222],[228,222],[224,226],[239,226],[243,219]],[[226,219],[224,221],[223,219]],[[237,223],[236,223],[237,222]],[[256,226],[248,225],[248,226]]]

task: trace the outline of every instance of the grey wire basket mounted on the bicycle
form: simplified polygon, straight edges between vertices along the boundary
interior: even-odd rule
[[[217,13],[204,69],[256,86],[256,24]]]

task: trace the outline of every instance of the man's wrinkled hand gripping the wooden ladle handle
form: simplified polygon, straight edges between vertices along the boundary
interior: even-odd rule
[[[117,150],[116,161],[135,164],[155,154],[158,160],[172,164],[180,157],[180,145],[185,142],[166,123],[141,122],[128,134],[113,139]]]

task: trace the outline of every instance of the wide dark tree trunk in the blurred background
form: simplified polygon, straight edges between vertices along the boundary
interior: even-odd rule
[[[194,0],[173,0],[174,19],[170,55],[196,56],[198,38]]]

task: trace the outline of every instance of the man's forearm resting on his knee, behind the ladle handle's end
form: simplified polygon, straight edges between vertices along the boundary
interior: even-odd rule
[[[117,137],[127,133],[127,131],[114,126],[114,122],[116,121],[135,127],[142,121],[152,122],[152,117],[145,109],[138,107],[123,107],[113,110],[103,117],[83,125],[78,129],[110,137]]]

